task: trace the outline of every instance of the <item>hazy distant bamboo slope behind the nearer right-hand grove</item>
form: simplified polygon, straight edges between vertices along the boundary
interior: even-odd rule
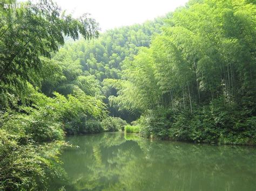
[[[67,43],[53,56],[55,79],[43,83],[42,91],[51,96],[53,91],[63,95],[71,94],[75,87],[87,95],[96,96],[109,103],[108,97],[116,96],[116,89],[104,87],[104,79],[121,79],[122,65],[133,60],[139,47],[149,47],[151,39],[160,33],[164,18],[157,18],[142,25],[121,27],[100,34],[93,40],[80,39]],[[62,70],[64,76],[59,73]],[[137,113],[118,111],[108,105],[110,115],[122,116],[127,121],[138,117]],[[137,115],[136,115],[137,114]]]

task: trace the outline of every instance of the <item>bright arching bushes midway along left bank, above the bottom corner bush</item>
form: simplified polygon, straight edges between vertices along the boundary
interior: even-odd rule
[[[67,97],[59,93],[53,96],[46,97],[32,89],[28,100],[30,105],[20,107],[25,114],[18,116],[24,118],[26,133],[36,141],[63,139],[64,131],[68,135],[103,131],[100,123],[96,122],[106,115],[102,101],[86,95],[79,88]],[[18,121],[14,123],[20,124]]]

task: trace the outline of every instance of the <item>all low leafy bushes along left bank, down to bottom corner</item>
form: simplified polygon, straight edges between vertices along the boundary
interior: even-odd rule
[[[30,88],[25,104],[10,100],[15,110],[0,112],[0,190],[48,189],[50,180],[65,177],[58,159],[63,142],[56,142],[64,139],[64,131],[103,131],[102,101],[79,90],[50,98]]]

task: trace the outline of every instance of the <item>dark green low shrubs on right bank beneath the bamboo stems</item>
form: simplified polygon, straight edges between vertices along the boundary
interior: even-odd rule
[[[255,144],[255,117],[245,116],[237,105],[214,100],[192,115],[178,114],[169,129],[174,140],[220,144]]]

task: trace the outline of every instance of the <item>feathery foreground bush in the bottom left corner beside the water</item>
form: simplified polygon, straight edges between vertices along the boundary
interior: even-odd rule
[[[62,179],[65,173],[58,165],[61,142],[36,146],[33,142],[21,144],[19,135],[0,130],[0,190],[46,190],[52,179]]]

